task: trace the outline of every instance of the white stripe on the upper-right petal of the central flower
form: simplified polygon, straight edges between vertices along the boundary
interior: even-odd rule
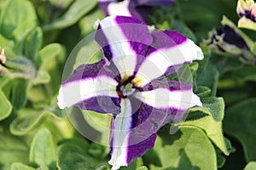
[[[143,87],[154,78],[162,76],[169,66],[195,59],[203,59],[203,54],[201,48],[189,39],[172,48],[160,48],[148,55],[139,68],[134,82],[137,82],[137,86]]]

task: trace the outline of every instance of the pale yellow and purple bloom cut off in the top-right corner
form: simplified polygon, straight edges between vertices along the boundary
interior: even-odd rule
[[[253,0],[238,0],[236,13],[240,17],[238,27],[256,31],[256,3]]]

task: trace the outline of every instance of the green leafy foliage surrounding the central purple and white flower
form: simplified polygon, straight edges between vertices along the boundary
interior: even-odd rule
[[[56,105],[61,80],[79,65],[102,59],[93,41],[96,20],[104,18],[96,3],[0,0],[0,48],[9,67],[0,65],[1,170],[110,170],[108,147],[84,139],[69,122],[73,115]],[[163,127],[152,150],[120,169],[225,169],[230,156],[241,159],[243,155],[236,153],[233,139],[224,134],[242,146],[246,162],[239,167],[256,169],[255,65],[241,63],[234,55],[215,54],[202,43],[212,28],[231,26],[247,42],[250,59],[255,60],[255,31],[241,31],[234,24],[236,3],[180,0],[171,7],[153,8],[149,19],[157,29],[177,30],[201,44],[205,59],[184,65],[170,78],[182,77],[193,84],[203,107],[191,108],[184,122]],[[72,52],[75,58],[67,60],[84,36],[87,39]],[[72,68],[63,71],[66,62]],[[71,112],[99,133],[97,141],[108,144],[111,116],[78,108]]]

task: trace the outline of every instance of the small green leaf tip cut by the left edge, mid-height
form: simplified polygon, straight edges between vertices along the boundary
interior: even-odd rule
[[[2,90],[0,90],[0,121],[7,118],[12,112],[12,105],[9,100],[5,97]]]

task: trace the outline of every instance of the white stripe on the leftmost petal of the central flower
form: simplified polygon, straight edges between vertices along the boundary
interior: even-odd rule
[[[96,96],[118,97],[116,86],[118,82],[111,77],[100,76],[66,82],[61,85],[58,99],[60,109],[70,107]]]

